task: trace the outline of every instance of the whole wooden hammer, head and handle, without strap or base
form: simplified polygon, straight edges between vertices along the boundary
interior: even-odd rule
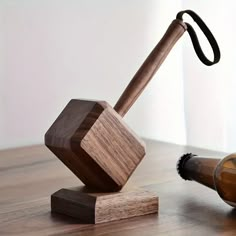
[[[186,30],[174,20],[135,74],[114,109],[104,101],[71,100],[45,134],[46,146],[86,185],[121,189],[145,156],[145,145],[125,124],[126,114]]]

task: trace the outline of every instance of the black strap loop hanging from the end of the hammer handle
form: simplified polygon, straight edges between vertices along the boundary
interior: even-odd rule
[[[204,21],[195,12],[193,12],[191,10],[185,10],[185,11],[179,12],[176,16],[176,19],[183,20],[183,14],[185,14],[185,13],[190,15],[193,18],[193,20],[197,23],[199,28],[202,30],[202,32],[204,33],[204,35],[208,39],[208,41],[212,47],[213,53],[214,53],[214,59],[213,59],[213,61],[210,61],[203,53],[202,48],[201,48],[199,41],[198,41],[197,34],[194,31],[193,27],[189,23],[185,22],[185,24],[187,25],[187,31],[190,35],[194,50],[195,50],[198,58],[201,60],[202,63],[204,63],[207,66],[211,66],[211,65],[216,64],[220,60],[220,49],[219,49],[219,46],[218,46],[213,34],[209,30],[209,28],[206,26]]]

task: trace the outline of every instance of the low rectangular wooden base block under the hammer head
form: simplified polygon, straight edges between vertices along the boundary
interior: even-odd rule
[[[98,224],[157,213],[158,197],[142,189],[114,193],[61,189],[52,194],[51,209],[84,223]]]

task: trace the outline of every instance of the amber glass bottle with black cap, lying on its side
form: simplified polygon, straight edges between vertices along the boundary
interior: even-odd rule
[[[236,207],[236,154],[221,160],[187,153],[179,159],[177,170],[183,179],[216,190],[226,203]]]

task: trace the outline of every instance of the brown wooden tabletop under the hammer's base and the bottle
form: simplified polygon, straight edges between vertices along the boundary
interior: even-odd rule
[[[177,159],[185,152],[224,154],[146,143],[147,156],[127,185],[154,191],[159,196],[159,215],[98,225],[51,214],[53,192],[82,184],[44,146],[0,151],[0,235],[236,235],[236,211],[213,190],[180,179],[175,170]]]

